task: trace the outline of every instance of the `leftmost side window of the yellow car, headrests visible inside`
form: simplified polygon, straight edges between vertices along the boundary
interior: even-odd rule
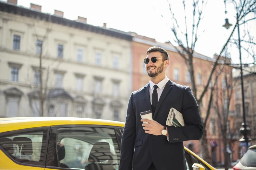
[[[0,147],[19,163],[43,165],[47,129],[0,135]]]

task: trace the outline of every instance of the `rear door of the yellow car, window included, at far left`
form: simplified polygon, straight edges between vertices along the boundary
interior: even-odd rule
[[[44,170],[50,127],[0,134],[0,169]]]

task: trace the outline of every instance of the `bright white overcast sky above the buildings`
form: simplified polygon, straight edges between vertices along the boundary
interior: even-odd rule
[[[170,2],[179,25],[184,30],[182,1],[170,0]],[[186,2],[187,22],[188,25],[192,25],[192,0]],[[159,42],[173,39],[167,0],[18,0],[20,6],[30,7],[30,3],[41,5],[43,12],[51,14],[54,13],[54,9],[63,11],[64,18],[71,20],[82,16],[87,18],[87,23],[95,26],[103,26],[103,22],[106,22],[108,28],[135,32],[155,38]],[[196,43],[196,52],[209,57],[220,52],[235,23],[235,10],[232,3],[227,5],[227,10],[226,15],[223,0],[207,1],[203,11],[203,20],[198,30],[200,37]],[[233,24],[229,30],[222,27],[225,18],[229,18],[230,23]],[[251,35],[256,37],[256,21],[251,21],[248,26]],[[188,27],[188,30],[191,28]],[[243,28],[240,28],[240,32],[243,32]],[[237,37],[237,32],[234,32],[234,37]],[[234,46],[231,50],[232,61],[239,63],[238,50]],[[243,52],[243,62],[252,62],[245,52]]]

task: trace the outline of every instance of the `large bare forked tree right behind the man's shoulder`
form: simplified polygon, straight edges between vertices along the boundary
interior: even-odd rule
[[[226,46],[229,44],[230,39],[234,33],[235,28],[237,27],[237,23],[239,21],[243,21],[244,23],[248,22],[248,21],[252,21],[255,18],[251,18],[251,19],[247,19],[247,16],[249,13],[256,13],[256,1],[255,0],[244,0],[243,2],[239,3],[238,5],[238,18],[236,20],[236,24],[233,27],[233,30],[229,36],[229,38],[227,39],[226,43],[224,44],[222,50],[220,51],[220,53],[218,54],[218,56],[216,57],[215,62],[212,62],[212,68],[211,68],[211,73],[210,76],[207,80],[207,82],[203,85],[203,91],[201,92],[201,95],[199,97],[197,97],[197,93],[198,93],[198,87],[196,86],[196,81],[195,81],[195,66],[193,63],[193,59],[194,59],[194,50],[195,50],[195,46],[196,46],[196,42],[198,40],[198,28],[199,25],[202,21],[202,13],[203,13],[203,9],[205,6],[205,1],[204,0],[193,0],[192,6],[193,6],[193,10],[192,10],[192,16],[193,16],[193,21],[192,21],[192,30],[188,31],[189,25],[187,22],[187,14],[186,14],[186,9],[187,9],[187,1],[185,2],[185,0],[182,1],[183,4],[183,12],[184,12],[184,20],[182,22],[185,23],[185,32],[182,31],[181,27],[180,27],[180,22],[177,20],[176,15],[173,12],[171,3],[169,0],[167,0],[169,3],[169,11],[171,13],[171,17],[172,17],[172,26],[171,26],[171,32],[174,35],[172,40],[169,40],[170,45],[172,45],[176,51],[179,53],[179,55],[184,59],[185,64],[188,68],[188,71],[190,73],[190,79],[191,79],[191,89],[192,89],[192,93],[196,98],[197,104],[200,106],[202,99],[205,95],[206,92],[208,92],[209,90],[209,84],[212,80],[212,76],[215,72],[215,69],[217,67],[217,65],[219,64],[219,60],[221,58],[221,55],[224,51],[224,49],[226,48]],[[188,2],[190,3],[190,1]],[[163,18],[164,16],[161,15]],[[191,34],[190,34],[191,33]],[[191,42],[190,42],[191,40]],[[175,45],[178,44],[178,47],[176,47]],[[208,108],[210,107],[210,103],[208,103]],[[201,108],[199,107],[199,111],[201,112]],[[203,118],[203,127],[205,129],[206,125],[207,125],[207,120],[209,118],[209,114],[210,111],[207,111],[206,116]],[[210,158],[210,154],[209,154],[209,149],[208,149],[208,145],[206,145],[207,142],[207,133],[206,131],[204,131],[203,133],[203,137],[200,140],[200,152],[201,155],[203,157],[203,159],[205,159],[207,162],[211,161]]]

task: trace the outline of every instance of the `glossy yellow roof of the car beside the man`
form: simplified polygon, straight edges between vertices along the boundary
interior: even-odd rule
[[[18,118],[0,118],[0,133],[13,130],[36,128],[44,126],[56,125],[106,125],[124,127],[124,122],[89,119],[89,118],[73,118],[73,117],[18,117]]]

